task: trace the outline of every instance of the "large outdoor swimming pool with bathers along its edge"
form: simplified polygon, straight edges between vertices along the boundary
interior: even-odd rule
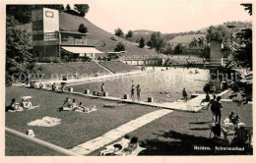
[[[123,98],[123,94],[131,94],[131,86],[134,84],[141,85],[141,100],[147,101],[148,97],[154,97],[156,102],[172,102],[182,98],[182,89],[186,88],[189,95],[192,93],[202,93],[203,87],[209,81],[209,70],[182,68],[161,68],[164,71],[156,70],[155,72],[105,79],[103,81],[94,81],[88,83],[68,85],[73,87],[74,91],[84,92],[84,89],[100,90],[100,85],[104,82],[104,89],[108,96]],[[136,95],[136,93],[135,93]]]

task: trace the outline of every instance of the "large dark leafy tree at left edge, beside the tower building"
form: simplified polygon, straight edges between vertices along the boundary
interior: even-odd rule
[[[6,86],[14,81],[30,81],[38,70],[30,52],[32,48],[27,31],[16,28],[18,22],[12,16],[6,19]]]

